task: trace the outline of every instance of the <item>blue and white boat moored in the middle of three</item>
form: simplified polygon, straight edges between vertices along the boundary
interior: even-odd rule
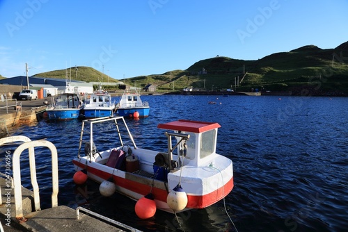
[[[84,118],[109,117],[116,109],[115,102],[111,101],[111,95],[106,93],[90,94],[82,106],[80,116]]]

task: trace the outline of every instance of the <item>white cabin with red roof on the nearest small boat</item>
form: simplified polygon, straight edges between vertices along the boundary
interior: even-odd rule
[[[216,122],[197,122],[182,119],[166,124],[158,124],[157,126],[159,129],[175,131],[175,133],[166,133],[168,137],[168,160],[173,160],[170,136],[173,135],[177,140],[180,140],[180,138],[184,138],[183,135],[187,135],[187,139],[184,139],[186,141],[178,144],[177,154],[186,151],[184,165],[192,166],[209,165],[215,158],[217,131],[220,127]]]

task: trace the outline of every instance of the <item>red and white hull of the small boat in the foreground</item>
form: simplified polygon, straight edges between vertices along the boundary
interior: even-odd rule
[[[148,153],[145,149],[137,150],[139,150],[138,156],[140,156],[140,160],[145,160],[151,156],[151,153]],[[135,153],[137,154],[137,152]],[[106,160],[108,158],[105,154],[102,154],[102,157]],[[153,159],[155,160],[155,157]],[[135,172],[113,169],[102,163],[93,162],[93,160],[89,162],[87,156],[75,158],[72,163],[74,163],[76,170],[86,169],[88,178],[97,183],[102,183],[102,181],[112,177],[114,183],[116,183],[116,191],[136,201],[151,192],[159,210],[174,213],[168,206],[166,199],[168,192],[173,190],[179,182],[181,182],[181,186],[188,198],[187,207],[182,211],[193,208],[206,208],[223,199],[231,192],[234,185],[232,160],[223,156],[217,157],[217,160],[219,160],[221,165],[216,167],[184,167],[182,171],[179,169],[175,172],[170,172],[165,181],[156,179],[153,176],[141,176],[141,174],[136,174]],[[218,162],[217,160],[216,163]],[[149,173],[153,164],[150,165],[150,162],[146,163],[148,164],[141,164],[141,168],[146,169]],[[154,175],[153,172],[152,175]],[[178,213],[178,211],[175,213]]]

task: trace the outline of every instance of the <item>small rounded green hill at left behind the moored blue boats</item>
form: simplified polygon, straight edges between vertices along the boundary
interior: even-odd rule
[[[68,69],[55,70],[51,72],[42,72],[40,74],[35,74],[34,76],[65,79],[66,72],[68,72],[68,75],[71,76],[71,79],[75,81],[118,82],[116,79],[111,77],[109,78],[109,76],[107,76],[106,74],[102,74],[102,72],[99,72],[92,67],[85,66],[79,66],[77,67],[77,69],[75,67],[71,67]]]

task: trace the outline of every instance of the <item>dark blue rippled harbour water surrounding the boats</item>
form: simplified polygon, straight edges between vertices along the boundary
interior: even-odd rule
[[[74,185],[71,160],[77,156],[81,121],[40,120],[15,129],[12,135],[45,138],[56,145],[59,204],[81,205],[142,231],[235,231],[228,215],[238,231],[348,228],[348,98],[164,95],[142,99],[150,103],[150,116],[127,119],[138,147],[166,151],[159,122],[192,119],[221,124],[217,153],[233,160],[235,180],[225,201],[177,218],[157,211],[151,219],[138,219],[135,201],[120,194],[101,197],[93,182],[88,181],[84,190]],[[5,149],[15,148],[1,147],[0,153]],[[45,149],[35,149],[35,155],[41,204],[47,208],[52,193],[50,157]],[[0,164],[3,172],[3,155]],[[30,187],[27,164],[23,158],[22,184]],[[79,194],[85,191],[88,201]]]

